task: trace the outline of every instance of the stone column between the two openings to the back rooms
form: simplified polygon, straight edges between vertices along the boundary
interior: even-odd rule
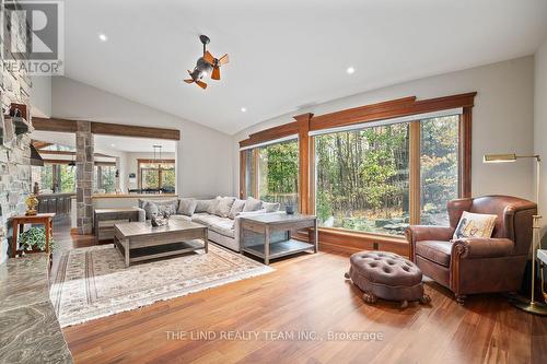
[[[91,234],[93,230],[93,166],[94,138],[91,122],[77,121],[75,132],[75,193],[78,234]]]

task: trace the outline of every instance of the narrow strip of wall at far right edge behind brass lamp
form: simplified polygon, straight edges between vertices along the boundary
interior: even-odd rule
[[[535,56],[534,149],[543,157],[539,208],[544,216],[542,225],[545,248],[547,247],[547,39]]]

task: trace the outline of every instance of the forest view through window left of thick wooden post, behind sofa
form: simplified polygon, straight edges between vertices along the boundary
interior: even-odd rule
[[[299,141],[291,139],[242,151],[245,195],[280,208],[299,206]]]

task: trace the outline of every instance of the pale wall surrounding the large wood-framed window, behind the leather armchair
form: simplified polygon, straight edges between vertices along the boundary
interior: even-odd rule
[[[482,164],[482,155],[485,153],[529,154],[533,152],[533,57],[405,82],[314,105],[260,122],[233,137],[234,172],[238,171],[238,141],[246,139],[252,132],[293,121],[293,115],[303,113],[323,115],[406,96],[424,99],[473,91],[478,92],[473,109],[473,195],[504,193],[532,199],[532,162]],[[236,193],[238,173],[234,173],[233,186],[233,191]]]

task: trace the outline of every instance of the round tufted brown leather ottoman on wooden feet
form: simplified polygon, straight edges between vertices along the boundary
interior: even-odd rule
[[[408,301],[422,304],[431,301],[423,294],[421,277],[420,269],[414,262],[387,251],[353,254],[349,272],[346,273],[346,279],[351,279],[364,292],[365,302],[375,303],[377,297],[400,301],[401,308],[408,306]]]

